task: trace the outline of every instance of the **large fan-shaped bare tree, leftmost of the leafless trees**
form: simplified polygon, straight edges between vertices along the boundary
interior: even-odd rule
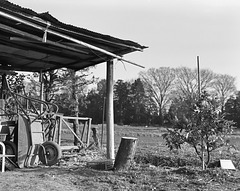
[[[149,102],[157,108],[160,125],[163,123],[163,111],[170,102],[170,95],[175,81],[174,69],[160,67],[150,68],[146,72],[140,72],[145,92]]]

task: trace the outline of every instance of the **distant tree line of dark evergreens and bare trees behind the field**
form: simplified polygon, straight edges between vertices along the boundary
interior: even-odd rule
[[[28,76],[25,93],[39,96],[38,74]],[[199,78],[198,78],[199,77]],[[198,79],[200,79],[200,84]],[[55,70],[44,73],[45,100],[56,103],[59,112],[69,116],[91,117],[100,124],[105,115],[106,80],[91,77],[89,71]],[[236,79],[187,67],[150,68],[134,80],[114,83],[114,118],[121,125],[163,125],[171,119],[187,119],[189,109],[201,92],[208,92],[220,103],[219,112],[240,123],[240,93]],[[89,85],[95,84],[94,88]]]

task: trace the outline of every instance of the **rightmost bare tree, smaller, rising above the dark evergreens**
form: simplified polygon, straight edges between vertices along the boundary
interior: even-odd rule
[[[235,81],[236,78],[227,74],[215,75],[215,80],[212,87],[217,96],[220,98],[221,112],[224,110],[224,105],[227,99],[236,92]]]

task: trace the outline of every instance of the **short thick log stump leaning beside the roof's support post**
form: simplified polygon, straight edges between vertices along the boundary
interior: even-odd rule
[[[137,138],[122,137],[113,167],[114,170],[127,170],[130,167],[136,146]]]

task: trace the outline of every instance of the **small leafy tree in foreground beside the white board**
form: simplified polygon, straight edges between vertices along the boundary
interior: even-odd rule
[[[211,152],[226,145],[225,137],[233,130],[234,123],[224,119],[220,110],[219,101],[204,92],[193,105],[191,117],[173,120],[173,127],[163,134],[167,146],[172,150],[189,144],[207,167]]]

